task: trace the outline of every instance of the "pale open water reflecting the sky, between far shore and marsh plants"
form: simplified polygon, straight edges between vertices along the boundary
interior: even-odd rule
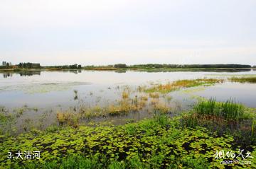
[[[165,83],[180,79],[193,78],[226,78],[228,76],[254,75],[255,71],[235,73],[216,72],[140,72],[127,71],[37,71],[0,73],[0,105],[5,107],[53,108],[70,107],[77,104],[74,100],[74,90],[84,103],[92,105],[110,103],[119,98],[122,86],[137,87],[149,83]],[[117,90],[119,88],[119,90]],[[202,91],[193,92],[206,98],[215,97],[217,100],[234,98],[240,103],[256,107],[256,85],[250,83],[223,83],[210,86]],[[181,94],[183,95],[183,94]],[[178,96],[177,96],[178,97]],[[178,97],[180,98],[180,97]]]

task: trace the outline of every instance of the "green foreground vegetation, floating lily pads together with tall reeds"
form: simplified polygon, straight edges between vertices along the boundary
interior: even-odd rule
[[[230,110],[240,114],[233,115]],[[0,161],[11,168],[221,168],[220,159],[213,158],[220,149],[235,152],[246,148],[255,156],[253,124],[243,123],[254,120],[253,113],[230,100],[206,100],[186,115],[172,118],[156,112],[151,120],[118,126],[92,122],[78,127],[48,127],[43,132],[2,136]],[[240,125],[233,129],[234,122]],[[217,126],[220,130],[213,129]],[[40,149],[43,161],[14,163],[4,158],[8,151],[20,149]]]

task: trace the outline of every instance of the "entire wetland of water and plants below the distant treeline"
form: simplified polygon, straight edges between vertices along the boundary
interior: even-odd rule
[[[0,168],[245,167],[213,155],[256,156],[255,79],[253,70],[1,72]],[[6,158],[27,150],[40,161]]]

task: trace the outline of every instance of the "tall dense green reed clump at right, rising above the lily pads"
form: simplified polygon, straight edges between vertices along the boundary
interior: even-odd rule
[[[206,127],[219,136],[232,135],[235,148],[250,149],[256,144],[255,112],[231,99],[223,103],[213,98],[199,102],[182,116],[181,126]]]

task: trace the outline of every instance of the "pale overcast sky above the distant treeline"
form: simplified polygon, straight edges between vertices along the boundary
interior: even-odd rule
[[[0,0],[0,61],[256,65],[255,0]]]

